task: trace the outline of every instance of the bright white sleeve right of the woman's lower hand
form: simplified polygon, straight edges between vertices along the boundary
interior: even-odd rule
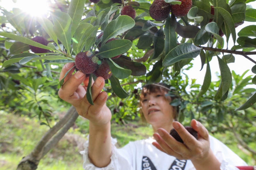
[[[221,170],[239,170],[236,166],[248,166],[243,159],[236,155],[236,153],[229,149],[225,144],[210,135],[209,138],[210,147],[221,163]]]

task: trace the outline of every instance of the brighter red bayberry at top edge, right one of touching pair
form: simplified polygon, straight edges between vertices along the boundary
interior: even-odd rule
[[[181,4],[171,5],[171,12],[176,17],[182,17],[188,14],[192,6],[192,0],[178,0]]]

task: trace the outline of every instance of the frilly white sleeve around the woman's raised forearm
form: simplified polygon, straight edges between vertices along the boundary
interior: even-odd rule
[[[111,147],[112,147],[112,155],[111,161],[106,167],[99,168],[93,165],[88,157],[88,145],[89,145],[89,135],[88,140],[84,143],[84,151],[80,151],[80,154],[83,155],[83,168],[84,170],[132,170],[132,166],[130,161],[125,158],[123,153],[119,153],[115,144],[117,142],[116,139],[111,137]]]

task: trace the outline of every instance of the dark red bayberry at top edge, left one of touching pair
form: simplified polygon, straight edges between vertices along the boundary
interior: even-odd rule
[[[149,15],[156,21],[163,21],[170,15],[171,5],[164,0],[154,0],[149,7]]]

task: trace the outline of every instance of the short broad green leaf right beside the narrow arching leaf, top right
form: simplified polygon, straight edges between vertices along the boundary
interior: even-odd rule
[[[231,8],[231,16],[234,23],[241,22],[245,19],[246,4],[243,2],[234,4]]]

